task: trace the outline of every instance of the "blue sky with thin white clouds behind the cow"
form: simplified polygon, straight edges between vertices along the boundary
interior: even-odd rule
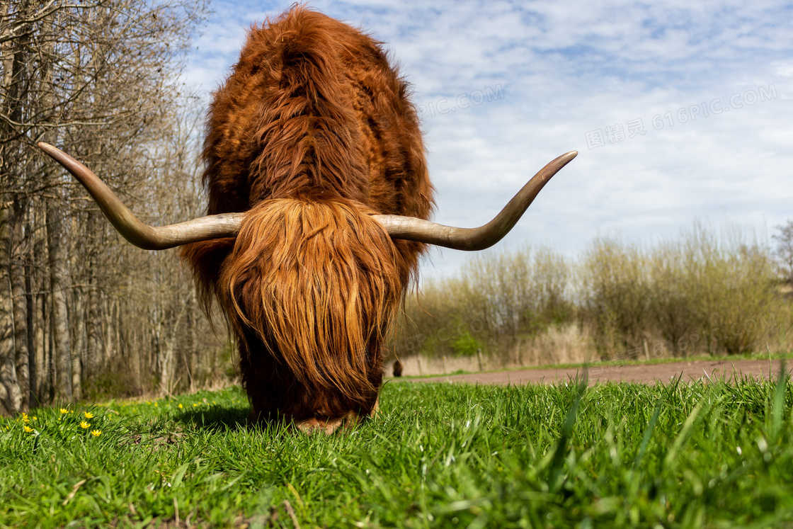
[[[185,82],[209,98],[247,29],[287,2],[213,0]],[[412,84],[433,220],[485,224],[579,155],[488,251],[599,236],[653,244],[695,221],[769,241],[793,219],[793,5],[781,2],[310,2],[385,43]],[[770,242],[769,242],[770,243]],[[471,255],[435,249],[424,278]]]

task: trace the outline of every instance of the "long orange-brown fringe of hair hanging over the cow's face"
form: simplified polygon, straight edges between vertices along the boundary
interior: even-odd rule
[[[380,347],[405,268],[369,213],[338,199],[262,201],[218,282],[243,355],[273,355],[312,393],[338,393],[360,408],[379,390]]]

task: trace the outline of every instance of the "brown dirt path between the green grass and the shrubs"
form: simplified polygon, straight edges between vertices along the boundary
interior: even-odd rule
[[[682,375],[683,381],[697,380],[699,378],[726,378],[734,377],[768,378],[770,373],[776,376],[780,372],[780,361],[773,360],[695,360],[691,362],[668,362],[662,364],[648,364],[638,366],[592,365],[588,369],[589,384],[607,381],[640,382],[655,384],[668,382],[672,378]],[[791,373],[793,366],[787,363],[787,372]],[[411,382],[465,382],[468,384],[555,384],[557,381],[566,381],[583,375],[582,367],[569,367],[559,369],[527,369],[514,371],[497,371],[492,373],[473,373],[444,375],[432,378],[404,378],[395,381]]]

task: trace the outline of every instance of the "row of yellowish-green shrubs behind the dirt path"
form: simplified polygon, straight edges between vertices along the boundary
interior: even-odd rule
[[[789,305],[756,237],[696,223],[650,247],[600,237],[575,265],[548,247],[477,255],[408,297],[391,346],[398,355],[508,351],[575,324],[601,358],[737,355],[769,341],[787,347]]]

